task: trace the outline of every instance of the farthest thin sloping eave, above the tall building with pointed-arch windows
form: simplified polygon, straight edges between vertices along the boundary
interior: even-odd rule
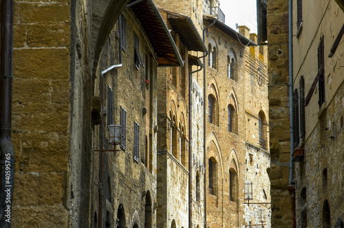
[[[256,43],[246,38],[244,35],[240,34],[239,32],[233,30],[233,28],[229,27],[222,21],[215,19],[213,16],[204,15],[203,19],[204,21],[208,21],[208,23],[213,23],[215,21],[214,26],[217,27],[222,32],[226,33],[228,36],[232,37],[235,41],[239,41],[239,43],[243,45],[257,46]]]

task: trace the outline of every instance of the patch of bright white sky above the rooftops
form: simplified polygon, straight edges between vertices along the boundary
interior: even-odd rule
[[[226,25],[235,30],[235,23],[246,25],[257,34],[257,0],[219,0],[219,8],[226,16]]]

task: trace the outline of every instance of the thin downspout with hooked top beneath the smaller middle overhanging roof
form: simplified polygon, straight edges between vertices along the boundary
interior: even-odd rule
[[[193,172],[192,172],[192,161],[193,161],[193,156],[192,156],[192,95],[191,95],[191,91],[192,91],[192,75],[193,73],[196,73],[198,71],[202,71],[203,68],[203,64],[200,61],[200,58],[197,58],[197,62],[198,64],[201,66],[200,69],[197,69],[195,71],[191,71],[189,73],[189,228],[192,228],[192,217],[193,217],[193,207],[192,207],[192,203],[193,203],[193,197],[192,197],[192,189],[191,189],[191,184],[193,183]]]

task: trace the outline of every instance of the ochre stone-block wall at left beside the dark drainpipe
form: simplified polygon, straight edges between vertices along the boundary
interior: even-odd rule
[[[70,2],[14,3],[12,227],[67,227]]]

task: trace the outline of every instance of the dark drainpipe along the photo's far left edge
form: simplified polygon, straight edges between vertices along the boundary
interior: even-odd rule
[[[11,227],[14,179],[14,148],[11,140],[13,74],[13,0],[2,3],[0,66],[0,151],[1,215],[0,227]]]

